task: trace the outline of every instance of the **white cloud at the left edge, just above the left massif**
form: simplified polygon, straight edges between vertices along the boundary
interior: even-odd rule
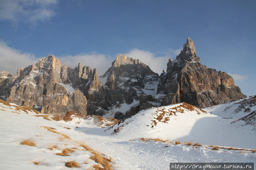
[[[13,75],[19,68],[35,64],[37,61],[34,55],[22,53],[0,41],[0,71],[9,71]]]

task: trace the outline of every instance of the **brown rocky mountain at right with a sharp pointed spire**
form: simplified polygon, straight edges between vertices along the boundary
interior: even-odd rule
[[[157,94],[162,96],[161,105],[187,102],[204,108],[246,97],[231,76],[201,65],[190,38],[176,59],[169,59],[166,73],[159,79]]]

